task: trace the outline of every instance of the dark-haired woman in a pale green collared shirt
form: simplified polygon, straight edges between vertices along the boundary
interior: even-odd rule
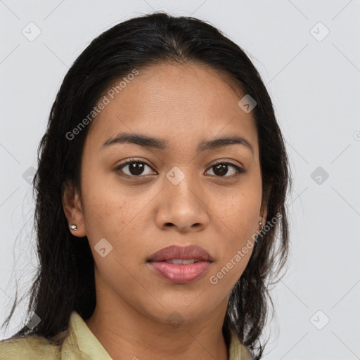
[[[0,359],[261,359],[289,174],[262,79],[219,30],[153,13],[104,32],[41,139],[30,322]]]

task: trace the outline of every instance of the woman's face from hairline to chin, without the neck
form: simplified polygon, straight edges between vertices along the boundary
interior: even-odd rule
[[[114,98],[105,96],[109,102],[84,144],[80,210],[67,215],[77,224],[74,235],[87,236],[91,245],[98,302],[112,309],[127,304],[163,322],[174,311],[182,321],[224,314],[261,214],[266,217],[252,113],[239,107],[241,97],[221,75],[193,64],[139,70]],[[120,134],[163,146],[109,142]],[[250,146],[199,148],[229,136]],[[197,245],[213,261],[203,274],[196,265],[168,264],[161,275],[148,259],[172,245]],[[179,266],[195,274],[174,274]]]

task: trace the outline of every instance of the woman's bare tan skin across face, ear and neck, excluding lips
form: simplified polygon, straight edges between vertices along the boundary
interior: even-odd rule
[[[87,236],[96,263],[97,303],[86,325],[114,360],[228,359],[221,328],[252,248],[217,284],[210,276],[259,231],[262,214],[263,224],[266,219],[257,130],[251,112],[238,106],[241,97],[206,66],[153,65],[139,71],[91,124],[81,196],[68,186],[63,207],[69,225],[77,224],[70,231]],[[165,139],[169,148],[122,143],[101,149],[120,131]],[[200,141],[234,134],[248,139],[253,153],[238,144],[195,151]],[[133,158],[151,167],[134,175],[126,166],[121,176],[115,168]],[[229,166],[221,176],[212,166],[217,160],[245,173]],[[177,185],[166,177],[174,166],[185,175]],[[94,250],[102,238],[113,245],[105,257]],[[191,244],[214,257],[193,283],[169,283],[146,264],[162,248]],[[167,321],[173,311],[183,321],[176,328]]]

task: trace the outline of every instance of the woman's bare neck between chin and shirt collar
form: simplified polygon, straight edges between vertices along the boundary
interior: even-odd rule
[[[169,323],[150,318],[123,300],[117,304],[102,304],[100,300],[86,325],[113,360],[228,360],[229,349],[222,333],[226,309],[227,298],[214,314],[203,319],[183,319],[173,313],[174,320],[180,321]]]

